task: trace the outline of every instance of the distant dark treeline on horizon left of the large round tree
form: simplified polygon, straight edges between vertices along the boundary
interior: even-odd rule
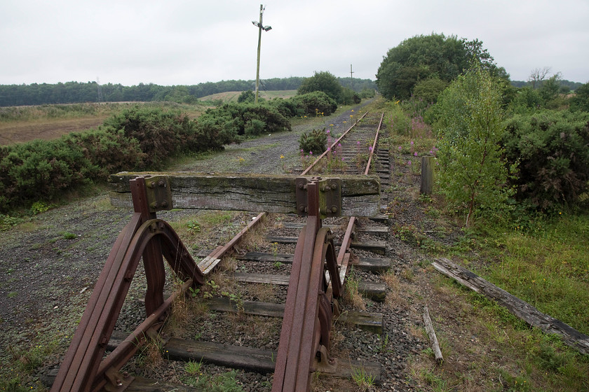
[[[259,90],[297,90],[304,78],[273,78],[260,80]],[[376,90],[370,79],[338,78],[341,85],[356,92]],[[98,85],[96,82],[67,82],[57,84],[0,85],[0,106],[43,104],[76,104],[82,102],[151,102],[172,101],[193,103],[198,98],[217,92],[255,90],[255,80],[221,80],[198,85],[163,86],[153,83],[133,86],[121,84]]]

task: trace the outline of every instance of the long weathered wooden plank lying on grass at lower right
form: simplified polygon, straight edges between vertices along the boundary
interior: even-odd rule
[[[477,274],[468,271],[447,258],[439,258],[432,263],[435,269],[459,281],[464,286],[492,298],[501,306],[506,307],[515,316],[523,321],[540,328],[543,332],[556,334],[562,337],[562,341],[579,352],[589,354],[589,336],[563,323],[557,318],[543,314],[531,304],[511,295],[506,290],[495,286],[493,283],[482,279]]]

